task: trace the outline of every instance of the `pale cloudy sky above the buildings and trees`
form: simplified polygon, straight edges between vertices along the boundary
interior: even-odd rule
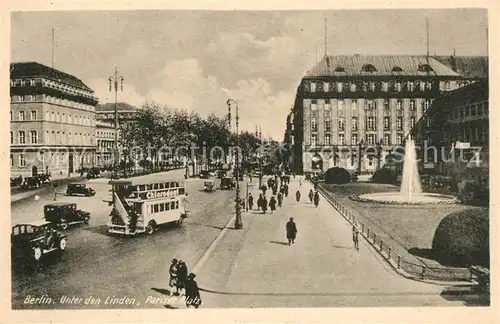
[[[116,66],[118,101],[223,117],[231,98],[240,129],[281,140],[301,78],[325,53],[325,19],[329,55],[377,55],[425,54],[426,17],[431,54],[487,55],[482,9],[23,11],[11,16],[11,62],[51,66],[54,28],[54,68],[100,103],[114,102]]]

